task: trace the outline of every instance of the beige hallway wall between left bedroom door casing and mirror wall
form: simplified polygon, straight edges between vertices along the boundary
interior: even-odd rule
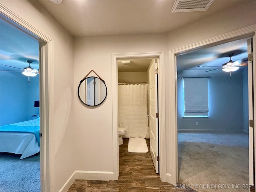
[[[73,144],[74,102],[74,66],[73,66],[73,37],[46,11],[38,1],[9,1],[1,0],[1,4],[24,19],[31,26],[40,30],[53,40],[53,74],[54,74],[54,113],[50,127],[54,143],[51,144],[54,156],[51,157],[52,192],[59,191],[70,175],[74,172],[75,161],[80,152]],[[49,141],[48,141],[49,142]]]

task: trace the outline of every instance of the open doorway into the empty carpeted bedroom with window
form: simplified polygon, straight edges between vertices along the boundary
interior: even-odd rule
[[[250,37],[177,56],[179,183],[219,184],[218,178],[222,176],[223,183],[249,185],[248,39]],[[208,53],[213,54],[213,61],[187,62],[187,68],[182,69],[184,59],[204,60]],[[228,73],[222,70],[222,64],[230,60],[227,56],[230,53],[239,68]],[[193,95],[189,89],[193,81],[197,84],[207,81],[207,117],[196,116],[197,112],[192,117],[186,112],[186,99]]]

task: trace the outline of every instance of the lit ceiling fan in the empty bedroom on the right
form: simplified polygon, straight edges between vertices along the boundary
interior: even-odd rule
[[[229,53],[229,54],[227,54],[227,56],[230,58],[230,60],[228,62],[222,64],[222,66],[220,66],[220,67],[222,68],[222,70],[224,72],[229,72],[230,77],[231,77],[231,72],[238,70],[239,66],[247,66],[247,60],[248,60],[247,58],[243,58],[241,60],[237,60],[237,61],[233,62],[231,57],[234,56],[234,53]],[[204,72],[209,72],[209,71],[213,71],[213,70],[217,70],[217,69],[219,69],[219,68],[204,71]]]

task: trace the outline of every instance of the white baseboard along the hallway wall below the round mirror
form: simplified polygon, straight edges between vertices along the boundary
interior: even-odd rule
[[[109,181],[117,180],[118,178],[114,176],[114,172],[108,171],[74,171],[59,192],[67,192],[76,179]]]

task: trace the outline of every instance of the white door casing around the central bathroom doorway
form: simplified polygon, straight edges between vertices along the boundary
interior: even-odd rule
[[[114,179],[119,176],[119,151],[118,151],[118,70],[117,60],[128,58],[159,58],[158,65],[158,113],[159,113],[159,174],[161,180],[165,181],[165,89],[164,89],[164,51],[160,52],[134,52],[112,54],[112,111],[113,111],[113,173]]]

